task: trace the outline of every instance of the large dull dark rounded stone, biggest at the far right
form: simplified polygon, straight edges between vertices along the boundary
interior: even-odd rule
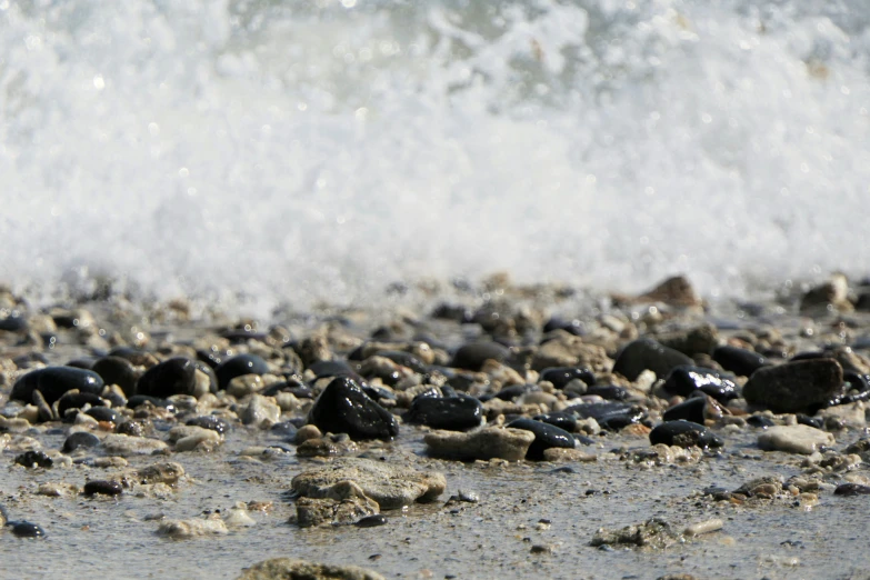
[[[839,393],[843,371],[833,359],[811,359],[764,367],[743,386],[743,398],[774,413],[798,413]]]

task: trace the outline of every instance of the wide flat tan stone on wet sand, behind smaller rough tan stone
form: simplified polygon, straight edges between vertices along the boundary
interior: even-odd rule
[[[291,481],[301,497],[342,499],[342,486],[358,486],[381,509],[398,509],[414,501],[432,500],[444,492],[442,473],[417,471],[401,466],[378,463],[368,459],[336,459],[327,467],[306,471]]]

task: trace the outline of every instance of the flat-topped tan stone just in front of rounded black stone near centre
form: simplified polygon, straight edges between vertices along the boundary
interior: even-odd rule
[[[526,458],[534,441],[534,433],[521,429],[484,427],[469,433],[433,431],[423,437],[430,456],[471,461],[476,459],[504,459],[519,461]]]

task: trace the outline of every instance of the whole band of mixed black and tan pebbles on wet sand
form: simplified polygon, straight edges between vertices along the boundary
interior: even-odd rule
[[[851,289],[838,274],[767,311],[747,303],[726,316],[711,313],[681,277],[641,296],[606,297],[577,317],[553,316],[560,292],[570,296],[494,277],[464,301],[398,312],[382,326],[349,312],[259,327],[190,321],[183,301],[147,314],[123,300],[39,309],[0,289],[0,451],[22,481],[32,470],[58,471],[36,491],[43,496],[160,497],[183,490],[183,453],[221,457],[229,438],[268,432],[283,443],[241,454],[311,461],[274,498],[294,503],[291,524],[302,528],[380,527],[390,510],[444,493],[441,472],[372,459],[384,443],[448,462],[572,469],[606,454],[692,464],[743,453],[730,441],[751,438],[759,452],[800,458],[803,473],[698,490],[686,501],[811,509],[822,493],[870,493],[857,469],[870,453],[861,437],[868,287]],[[540,294],[547,308],[537,306]],[[778,328],[787,316],[798,324]],[[62,443],[44,446],[43,434],[58,430]],[[608,449],[616,434],[646,446]],[[128,464],[142,456],[153,461]],[[106,476],[64,481],[63,470],[79,463]],[[0,523],[19,538],[49,537],[2,504],[9,491],[0,490]],[[448,503],[473,498],[463,493]],[[163,518],[154,533],[226,534],[253,524],[252,509]],[[719,519],[679,527],[639,517],[621,530],[591,530],[587,544],[661,549],[722,528]],[[242,578],[272,578],[268,570],[288,566],[316,564],[270,561]]]

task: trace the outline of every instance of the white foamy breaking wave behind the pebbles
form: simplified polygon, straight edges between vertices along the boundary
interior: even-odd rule
[[[0,282],[868,273],[870,3],[0,0]]]

